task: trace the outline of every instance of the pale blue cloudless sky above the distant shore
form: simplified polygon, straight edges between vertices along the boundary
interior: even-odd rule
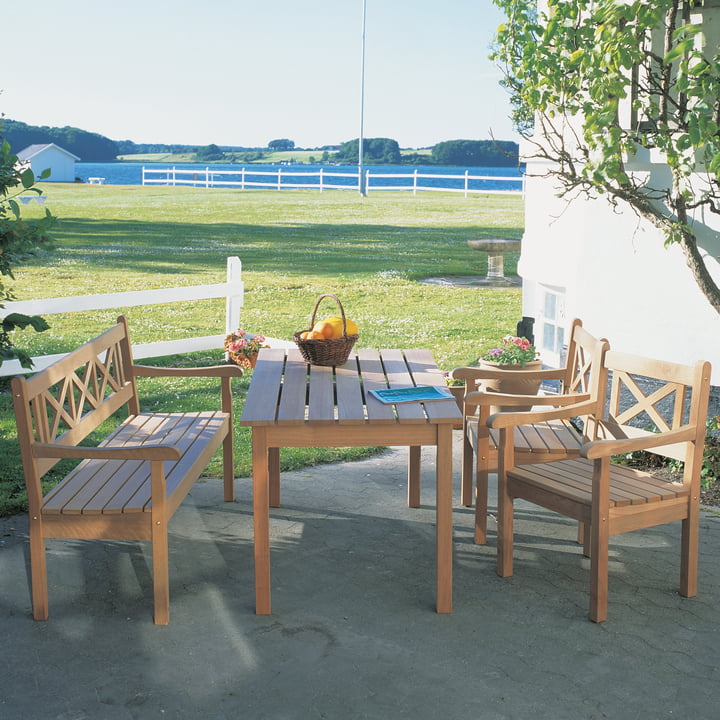
[[[365,137],[516,139],[492,0],[366,2]],[[9,3],[0,112],[113,140],[341,143],[360,128],[361,16],[362,0]]]

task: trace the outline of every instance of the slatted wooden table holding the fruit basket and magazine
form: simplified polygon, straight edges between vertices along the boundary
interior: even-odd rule
[[[444,385],[427,350],[358,350],[345,365],[308,365],[296,348],[260,351],[240,419],[252,428],[255,611],[270,614],[270,506],[280,504],[280,448],[409,447],[408,504],[420,503],[420,448],[434,445],[437,611],[452,611],[454,399],[384,405],[371,389]]]

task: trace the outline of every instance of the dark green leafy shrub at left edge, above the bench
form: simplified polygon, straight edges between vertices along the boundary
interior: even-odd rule
[[[10,150],[10,143],[3,138],[2,121],[0,121],[0,276],[14,279],[13,269],[26,262],[39,251],[40,246],[49,242],[48,229],[55,218],[49,210],[45,217],[28,222],[20,217],[20,207],[15,198],[21,194],[35,193],[42,195],[42,190],[35,187],[35,175],[32,170],[21,170],[18,167],[17,155]],[[38,179],[44,179],[49,171],[44,171]],[[5,302],[15,299],[11,288],[0,281],[0,308]],[[12,333],[17,329],[32,327],[37,332],[48,329],[48,324],[38,315],[22,315],[10,313],[2,319],[0,327],[0,365],[5,360],[17,358],[20,364],[32,367],[30,355],[16,348]]]

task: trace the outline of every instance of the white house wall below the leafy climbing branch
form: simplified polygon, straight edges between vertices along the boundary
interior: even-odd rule
[[[530,163],[528,173],[539,165]],[[704,253],[720,283],[720,221],[708,227]],[[713,363],[720,385],[720,315],[695,283],[678,246],[629,208],[607,200],[559,199],[550,180],[528,178],[519,274],[523,315],[542,318],[542,288],[564,292],[565,320],[610,340],[613,349],[659,359]]]

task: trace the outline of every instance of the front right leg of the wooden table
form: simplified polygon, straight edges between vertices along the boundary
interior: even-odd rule
[[[437,426],[437,611],[452,612],[452,425]]]

